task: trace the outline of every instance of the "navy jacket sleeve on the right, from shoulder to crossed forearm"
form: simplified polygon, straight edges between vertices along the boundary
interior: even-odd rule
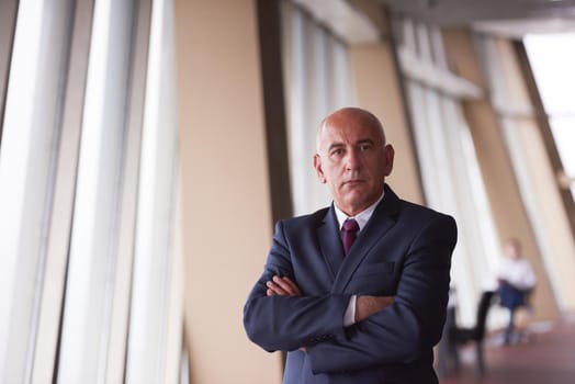
[[[425,227],[404,259],[395,302],[345,336],[308,349],[314,373],[409,363],[439,342],[446,319],[455,222],[441,215]]]

